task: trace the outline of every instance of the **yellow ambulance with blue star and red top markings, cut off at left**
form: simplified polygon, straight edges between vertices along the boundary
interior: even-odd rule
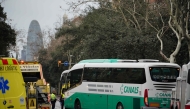
[[[0,57],[0,109],[27,109],[25,83],[14,58]]]

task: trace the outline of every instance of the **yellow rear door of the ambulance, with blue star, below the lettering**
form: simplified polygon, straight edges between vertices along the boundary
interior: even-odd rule
[[[26,109],[25,85],[21,78],[21,73],[3,72],[4,89],[2,91],[6,104],[6,109]]]

